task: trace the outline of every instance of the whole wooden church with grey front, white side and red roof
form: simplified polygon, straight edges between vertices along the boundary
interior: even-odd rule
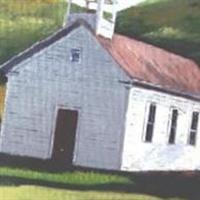
[[[200,68],[114,33],[116,11],[67,26],[1,65],[0,152],[123,171],[200,169]],[[17,41],[16,41],[17,42]]]

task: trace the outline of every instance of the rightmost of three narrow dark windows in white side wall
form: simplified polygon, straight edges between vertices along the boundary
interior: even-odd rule
[[[191,123],[191,127],[190,127],[190,136],[189,136],[189,141],[188,141],[188,143],[190,145],[196,144],[198,121],[199,121],[199,113],[193,112],[192,113],[192,123]]]

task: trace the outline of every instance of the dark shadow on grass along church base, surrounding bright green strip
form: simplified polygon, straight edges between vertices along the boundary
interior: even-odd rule
[[[30,158],[18,158],[0,156],[0,166],[9,168],[21,168],[51,173],[85,171],[97,172],[108,175],[118,175],[127,178],[127,183],[61,183],[53,180],[41,180],[36,178],[22,178],[0,175],[1,186],[36,185],[57,189],[69,189],[79,191],[108,191],[126,192],[153,195],[161,198],[183,198],[187,200],[200,199],[200,173],[199,172],[146,172],[146,173],[124,173],[115,171],[99,171],[84,168],[67,168],[60,164],[52,164],[53,161],[41,161]],[[50,167],[51,166],[51,167]]]

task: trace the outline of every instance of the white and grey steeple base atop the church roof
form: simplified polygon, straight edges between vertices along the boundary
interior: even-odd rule
[[[73,4],[85,7],[86,12],[73,12]],[[116,22],[116,0],[69,0],[64,25],[77,19],[84,19],[94,29],[96,35],[112,39]]]

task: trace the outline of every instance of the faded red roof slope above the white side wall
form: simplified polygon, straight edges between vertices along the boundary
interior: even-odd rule
[[[200,68],[192,60],[118,34],[98,40],[132,78],[200,95]]]

